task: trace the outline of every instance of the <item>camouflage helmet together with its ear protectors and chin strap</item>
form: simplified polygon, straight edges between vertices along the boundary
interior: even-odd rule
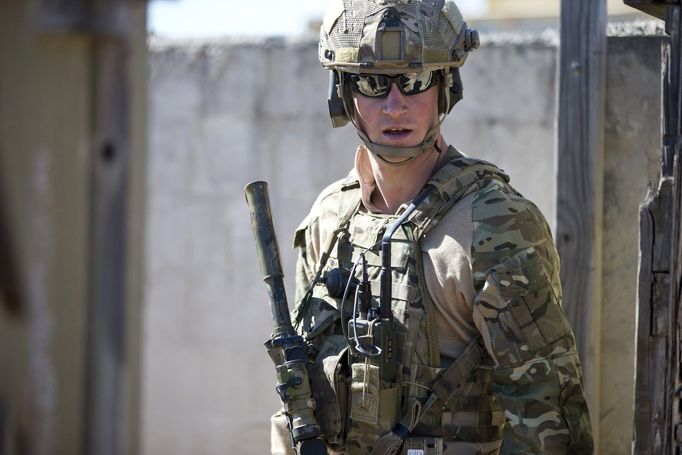
[[[328,103],[332,125],[352,121],[367,148],[380,157],[414,158],[431,150],[440,123],[462,99],[459,67],[478,46],[478,32],[467,27],[451,0],[334,0],[320,28],[318,50],[322,66],[331,70]],[[371,142],[355,122],[344,75],[421,71],[441,74],[438,123],[415,147]]]

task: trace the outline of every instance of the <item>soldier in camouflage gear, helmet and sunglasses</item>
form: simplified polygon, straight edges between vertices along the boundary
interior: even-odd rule
[[[592,453],[547,222],[440,134],[478,34],[450,0],[335,0],[320,34],[332,123],[362,141],[294,240],[328,452]]]

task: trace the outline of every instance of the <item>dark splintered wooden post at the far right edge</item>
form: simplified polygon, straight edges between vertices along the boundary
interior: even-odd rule
[[[665,17],[670,35],[663,52],[661,179],[640,207],[633,454],[680,453],[682,6],[672,0],[626,3]]]

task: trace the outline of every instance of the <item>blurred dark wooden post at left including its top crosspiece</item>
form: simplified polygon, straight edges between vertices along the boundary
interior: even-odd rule
[[[88,35],[92,58],[89,307],[83,453],[126,452],[126,246],[130,162],[131,5],[43,0],[44,32]]]

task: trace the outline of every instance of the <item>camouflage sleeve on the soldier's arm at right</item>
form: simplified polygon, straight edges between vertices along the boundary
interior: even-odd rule
[[[559,259],[547,223],[516,193],[482,199],[487,207],[478,210],[474,242],[489,244],[475,243],[485,268],[474,271],[474,318],[508,421],[501,453],[590,454],[582,372],[561,309]]]

